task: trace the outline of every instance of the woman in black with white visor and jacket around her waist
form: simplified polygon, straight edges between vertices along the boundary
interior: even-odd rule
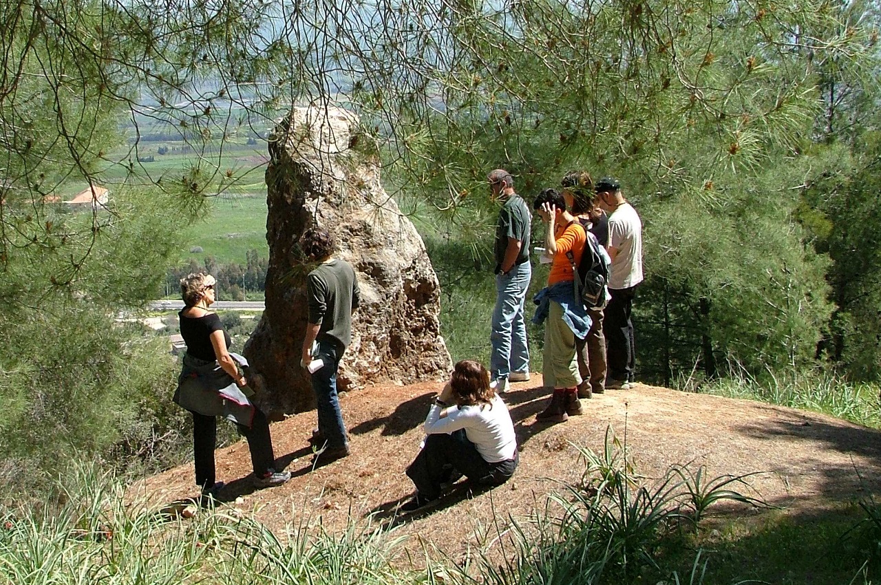
[[[187,352],[174,402],[193,415],[196,485],[202,488],[204,496],[213,496],[223,487],[214,469],[218,416],[232,420],[248,440],[255,487],[282,485],[291,478],[290,472],[274,468],[269,420],[251,404],[249,397],[254,392],[248,389],[248,380],[239,371],[248,362],[229,352],[230,337],[217,313],[208,310],[214,304],[216,287],[210,274],[200,272],[181,278],[185,306],[178,314]]]

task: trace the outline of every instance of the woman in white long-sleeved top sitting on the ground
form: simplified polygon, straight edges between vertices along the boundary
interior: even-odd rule
[[[407,468],[416,496],[412,512],[441,497],[441,484],[461,475],[479,485],[504,484],[517,468],[517,437],[507,406],[490,388],[490,374],[463,359],[426,417],[425,444]]]

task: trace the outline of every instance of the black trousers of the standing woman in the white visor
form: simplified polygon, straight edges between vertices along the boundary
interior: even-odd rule
[[[192,414],[196,485],[204,489],[211,487],[217,481],[214,471],[214,448],[217,445],[218,419],[198,412],[192,412]],[[266,470],[275,465],[269,420],[259,408],[255,408],[254,420],[250,427],[238,424],[236,426],[239,429],[239,434],[248,441],[254,475],[258,478],[262,477],[266,474]]]

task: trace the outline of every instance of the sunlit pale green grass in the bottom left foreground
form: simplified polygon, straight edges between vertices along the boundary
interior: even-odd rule
[[[389,558],[399,541],[350,526],[342,535],[289,529],[278,537],[224,508],[181,521],[127,507],[118,478],[72,470],[63,497],[40,510],[0,511],[0,582],[17,585],[137,583],[411,583]],[[369,528],[369,527],[367,527]]]

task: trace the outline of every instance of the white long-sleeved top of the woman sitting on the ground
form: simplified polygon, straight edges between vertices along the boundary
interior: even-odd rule
[[[514,459],[517,450],[514,423],[499,396],[492,399],[492,404],[449,406],[444,418],[441,418],[442,410],[438,404],[432,404],[426,417],[426,434],[450,434],[465,429],[468,440],[478,448],[486,463]]]

